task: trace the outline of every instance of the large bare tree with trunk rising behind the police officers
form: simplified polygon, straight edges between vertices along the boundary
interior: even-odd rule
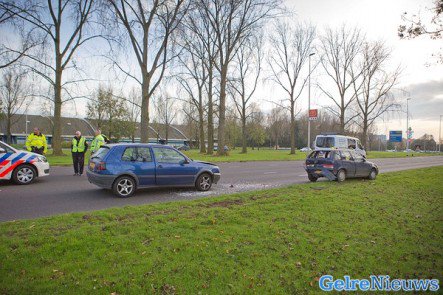
[[[73,57],[79,48],[89,40],[98,37],[87,34],[95,0],[36,0],[5,1],[2,8],[22,20],[29,30],[44,35],[45,44],[53,46],[53,55],[47,61],[37,53],[27,52],[23,56],[33,64],[28,64],[35,73],[45,79],[54,89],[49,97],[54,103],[54,130],[52,148],[54,154],[63,155],[61,147],[61,110],[66,101],[77,96],[71,94],[68,85],[79,80],[64,81],[63,73],[75,68]],[[63,98],[62,92],[66,95]]]

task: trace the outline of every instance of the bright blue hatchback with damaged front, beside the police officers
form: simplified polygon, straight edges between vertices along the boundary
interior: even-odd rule
[[[112,189],[122,198],[137,188],[196,187],[207,191],[220,180],[220,168],[193,161],[177,149],[160,144],[108,144],[89,160],[90,183]]]

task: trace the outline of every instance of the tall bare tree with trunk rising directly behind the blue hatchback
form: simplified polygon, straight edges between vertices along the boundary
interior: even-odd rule
[[[149,2],[149,3],[148,3]],[[167,65],[177,53],[171,50],[171,38],[189,7],[185,0],[108,0],[117,24],[126,31],[135,55],[139,75],[114,62],[141,87],[140,140],[149,140],[149,102],[165,76]],[[126,50],[127,47],[125,47]]]

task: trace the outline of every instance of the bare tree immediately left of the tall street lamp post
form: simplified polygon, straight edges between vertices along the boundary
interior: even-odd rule
[[[310,25],[279,22],[275,34],[271,35],[271,52],[268,63],[272,70],[271,79],[288,95],[291,115],[291,154],[295,154],[296,102],[300,97],[308,75],[303,79],[301,71],[312,52],[315,28]]]

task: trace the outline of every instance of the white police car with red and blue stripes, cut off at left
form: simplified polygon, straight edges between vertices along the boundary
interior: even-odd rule
[[[36,177],[47,175],[49,163],[45,156],[17,150],[0,141],[0,180],[30,184]]]

